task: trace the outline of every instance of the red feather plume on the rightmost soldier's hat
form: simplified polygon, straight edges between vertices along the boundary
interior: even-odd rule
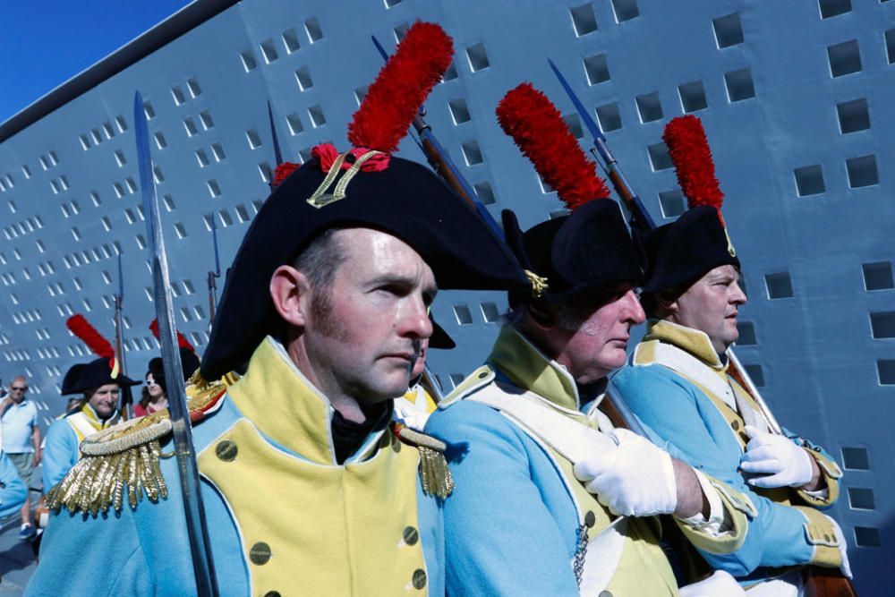
[[[715,177],[712,149],[703,123],[694,115],[678,116],[665,125],[662,134],[669,156],[678,172],[678,184],[690,209],[711,205],[721,209],[724,193]]]

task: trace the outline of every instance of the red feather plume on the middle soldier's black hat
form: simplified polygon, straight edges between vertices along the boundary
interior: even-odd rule
[[[498,122],[545,183],[556,189],[568,209],[609,197],[609,188],[594,171],[559,110],[531,83],[509,90],[498,104]]]

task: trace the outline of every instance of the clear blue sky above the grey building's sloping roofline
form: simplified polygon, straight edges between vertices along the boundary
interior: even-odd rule
[[[186,4],[189,0],[3,2],[0,122]]]

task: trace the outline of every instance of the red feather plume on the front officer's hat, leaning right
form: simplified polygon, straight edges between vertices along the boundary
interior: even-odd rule
[[[438,25],[413,23],[354,113],[348,141],[355,147],[395,151],[453,55],[453,42]]]

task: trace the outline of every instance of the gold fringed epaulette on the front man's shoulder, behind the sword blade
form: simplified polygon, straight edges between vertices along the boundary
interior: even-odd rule
[[[212,411],[237,376],[227,374],[215,382],[202,380],[199,371],[190,379],[187,408],[193,425]],[[64,479],[47,492],[47,507],[97,516],[115,507],[120,512],[127,490],[128,505],[136,508],[145,494],[149,501],[167,498],[167,484],[158,464],[161,442],[171,433],[171,415],[162,409],[90,435],[81,442],[81,460]]]

